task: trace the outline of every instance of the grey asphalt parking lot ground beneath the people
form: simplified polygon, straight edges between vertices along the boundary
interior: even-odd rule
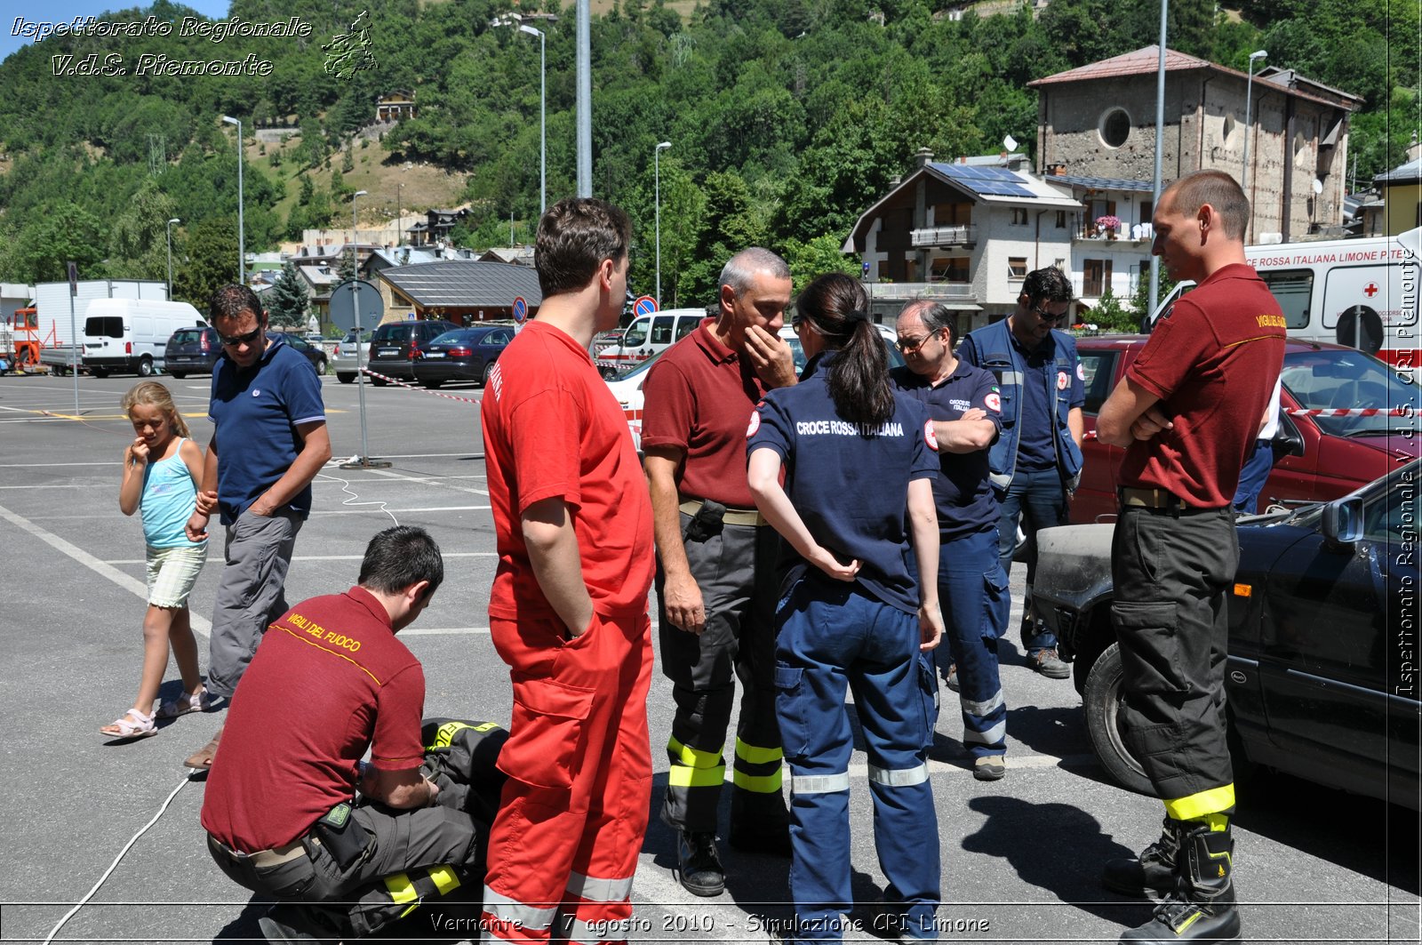
[[[142,529],[137,517],[118,511],[119,458],[132,437],[118,400],[134,380],[81,377],[75,413],[73,379],[0,377],[0,639],[9,666],[0,673],[7,729],[0,744],[11,771],[10,808],[0,818],[4,942],[46,941],[115,860],[92,899],[53,941],[260,939],[256,917],[264,904],[209,860],[198,824],[203,786],[186,780],[181,767],[222,714],[185,716],[158,737],[131,743],[98,734],[131,704],[141,656]],[[208,377],[165,380],[195,437],[206,443]],[[296,602],[343,591],[375,531],[394,521],[428,528],[444,549],[445,585],[401,633],[425,666],[425,714],[502,723],[510,695],[488,636],[495,554],[478,408],[456,400],[474,401],[482,391],[441,393],[451,397],[367,389],[370,455],[391,465],[333,464],[317,478],[316,508],[297,539],[286,593]],[[324,394],[337,461],[357,455],[357,389],[327,377]],[[203,666],[219,566],[215,548],[192,598]],[[956,697],[943,693],[930,754],[944,864],[940,929],[946,941],[1115,941],[1143,922],[1149,907],[1105,892],[1099,865],[1152,840],[1162,810],[1105,780],[1071,683],[1027,669],[1015,636],[1021,566],[1012,588],[1014,632],[1001,645],[1010,709],[1004,780],[973,780]],[[165,696],[178,687],[175,667],[168,679]],[[301,693],[293,692],[289,704],[272,707],[272,724],[300,706]],[[670,686],[660,673],[648,716],[657,781],[629,939],[765,941],[765,925],[791,914],[786,861],[722,848],[727,892],[698,899],[681,889],[671,833],[656,820],[667,770],[660,746],[671,723]],[[856,899],[869,904],[882,894],[883,875],[862,754],[852,774]],[[1261,773],[1241,786],[1236,824],[1236,882],[1249,939],[1419,939],[1416,814]],[[438,908],[424,911],[405,934],[448,939],[437,934]],[[876,938],[872,928],[850,934],[853,941]]]

